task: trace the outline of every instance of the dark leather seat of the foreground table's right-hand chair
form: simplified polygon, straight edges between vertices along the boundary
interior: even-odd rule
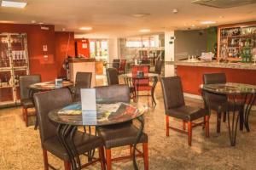
[[[130,123],[98,129],[99,136],[102,137],[106,149],[133,144],[138,132],[138,128]],[[148,135],[143,133],[139,143],[145,142],[148,142]]]

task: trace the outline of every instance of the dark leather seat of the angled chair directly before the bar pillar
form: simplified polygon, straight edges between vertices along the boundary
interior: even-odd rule
[[[183,105],[181,107],[167,110],[166,115],[182,119],[183,121],[194,121],[198,118],[209,115],[209,113],[205,109]]]

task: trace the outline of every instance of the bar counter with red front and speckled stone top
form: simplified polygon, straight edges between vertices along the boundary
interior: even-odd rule
[[[195,98],[201,96],[200,85],[205,73],[224,72],[227,82],[256,85],[256,65],[253,64],[177,61],[175,65],[177,76],[183,82],[183,92],[191,97],[194,95]]]

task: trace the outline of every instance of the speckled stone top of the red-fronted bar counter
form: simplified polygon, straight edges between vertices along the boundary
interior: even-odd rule
[[[218,63],[216,61],[211,61],[211,62],[177,61],[177,62],[175,62],[175,65],[215,67],[215,68],[228,68],[228,69],[242,69],[242,70],[256,70],[256,65],[253,65],[253,63]]]

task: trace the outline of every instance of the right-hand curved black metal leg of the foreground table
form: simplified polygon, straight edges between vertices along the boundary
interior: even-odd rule
[[[139,128],[139,132],[137,133],[137,138],[135,140],[135,143],[133,144],[133,148],[132,148],[132,161],[133,161],[133,167],[135,170],[138,170],[137,168],[137,162],[136,162],[136,146],[137,143],[139,143],[142,135],[143,135],[143,129],[144,129],[144,117],[143,116],[139,116],[137,118],[137,120],[141,123],[141,127]]]

